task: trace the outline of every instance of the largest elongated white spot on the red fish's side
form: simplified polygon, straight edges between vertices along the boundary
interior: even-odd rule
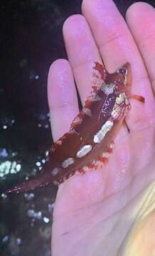
[[[113,126],[112,121],[108,120],[107,122],[105,122],[105,124],[102,125],[100,131],[97,132],[97,134],[95,134],[94,142],[100,143],[102,139],[105,137],[105,135],[107,134],[107,132],[109,132],[112,129],[112,126]]]

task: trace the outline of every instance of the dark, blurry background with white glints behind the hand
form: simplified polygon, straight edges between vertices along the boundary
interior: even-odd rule
[[[91,1],[91,0],[90,0]],[[0,255],[50,256],[56,189],[6,197],[4,189],[34,176],[51,144],[48,68],[66,58],[62,26],[80,0],[1,1]],[[136,1],[114,1],[124,15]],[[154,1],[146,1],[155,6]],[[50,195],[50,196],[49,196]]]

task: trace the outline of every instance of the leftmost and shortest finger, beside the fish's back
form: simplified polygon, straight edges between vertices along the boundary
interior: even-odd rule
[[[51,130],[55,141],[68,132],[70,122],[79,112],[73,73],[67,60],[56,60],[50,66],[48,105]]]

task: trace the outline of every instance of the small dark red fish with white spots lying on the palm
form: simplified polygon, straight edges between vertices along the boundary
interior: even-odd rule
[[[107,163],[124,118],[130,110],[131,69],[126,63],[114,73],[103,65],[93,68],[92,93],[80,114],[73,120],[69,132],[53,143],[48,161],[41,174],[6,191],[18,193],[54,183],[63,183],[74,174],[83,174]]]

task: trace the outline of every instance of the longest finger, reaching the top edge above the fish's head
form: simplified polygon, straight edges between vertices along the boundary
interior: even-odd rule
[[[98,48],[108,70],[129,61],[132,66],[132,93],[145,97],[145,104],[135,100],[127,117],[130,130],[138,129],[141,112],[145,119],[153,110],[153,95],[146,69],[127,25],[112,0],[83,0],[82,12],[90,24]],[[145,78],[145,79],[144,79]],[[151,113],[151,114],[152,114]]]

